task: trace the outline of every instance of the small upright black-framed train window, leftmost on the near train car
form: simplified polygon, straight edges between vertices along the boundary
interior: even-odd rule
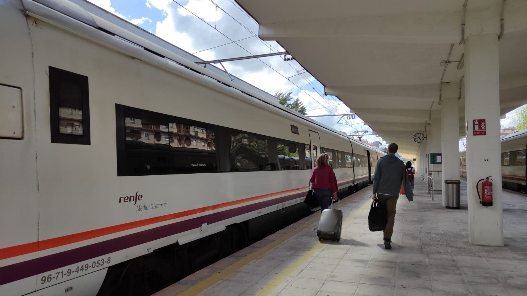
[[[51,142],[90,145],[88,77],[49,67]]]

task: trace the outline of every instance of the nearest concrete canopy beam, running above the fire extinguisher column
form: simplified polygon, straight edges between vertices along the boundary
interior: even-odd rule
[[[461,5],[460,5],[461,6]],[[486,9],[467,6],[465,37],[499,33],[501,5]],[[527,30],[527,2],[509,0],[505,4],[504,34]],[[458,43],[461,38],[462,7],[458,12],[430,12],[394,15],[362,15],[345,18],[308,18],[302,21],[261,23],[259,37],[339,38],[355,42]]]

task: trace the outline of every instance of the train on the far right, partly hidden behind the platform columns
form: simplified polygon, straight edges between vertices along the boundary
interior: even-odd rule
[[[527,129],[513,132],[500,138],[502,187],[527,192],[525,151]],[[460,176],[466,178],[466,151],[460,152]]]

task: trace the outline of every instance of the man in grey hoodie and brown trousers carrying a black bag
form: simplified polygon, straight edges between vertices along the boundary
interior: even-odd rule
[[[410,182],[406,175],[404,162],[398,159],[395,154],[399,147],[392,143],[388,145],[388,154],[377,161],[375,176],[373,177],[372,199],[386,205],[388,210],[388,223],[384,229],[384,248],[392,249],[392,234],[395,223],[395,206],[399,198],[401,184],[404,183],[404,192],[408,201],[413,200],[414,193],[410,189]]]

